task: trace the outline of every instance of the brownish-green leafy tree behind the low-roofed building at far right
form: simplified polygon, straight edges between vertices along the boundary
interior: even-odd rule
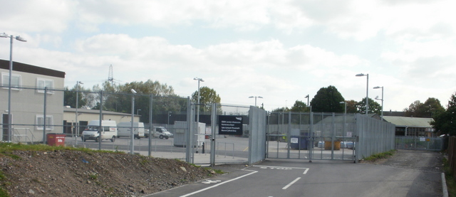
[[[433,115],[445,111],[440,104],[440,100],[430,97],[424,103],[415,100],[408,108],[404,109],[405,116],[408,117],[432,117]]]

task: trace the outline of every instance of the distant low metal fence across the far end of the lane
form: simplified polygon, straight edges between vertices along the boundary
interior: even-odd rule
[[[442,151],[442,137],[395,137],[395,149]]]

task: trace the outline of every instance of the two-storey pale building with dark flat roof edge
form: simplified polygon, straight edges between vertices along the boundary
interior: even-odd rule
[[[11,73],[12,142],[43,142],[46,133],[63,131],[62,127],[56,127],[56,125],[61,125],[63,122],[64,79],[65,73],[58,70],[25,63],[13,63]],[[46,97],[45,87],[47,87]],[[9,60],[0,60],[0,128],[2,129],[0,139],[3,142],[9,141],[8,97]]]

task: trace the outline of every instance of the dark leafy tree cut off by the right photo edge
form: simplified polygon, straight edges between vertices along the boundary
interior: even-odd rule
[[[456,92],[451,95],[448,101],[447,110],[437,111],[434,121],[430,124],[441,134],[456,135]]]

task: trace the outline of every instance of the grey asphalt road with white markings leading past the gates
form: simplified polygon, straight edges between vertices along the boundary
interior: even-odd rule
[[[150,196],[442,196],[439,171],[390,165],[268,159],[224,170],[231,172]]]

